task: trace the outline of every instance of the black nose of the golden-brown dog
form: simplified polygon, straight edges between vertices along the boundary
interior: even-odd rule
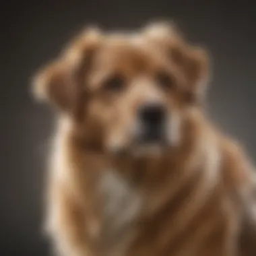
[[[158,126],[164,121],[165,111],[160,104],[146,104],[139,109],[139,118],[144,125]]]

